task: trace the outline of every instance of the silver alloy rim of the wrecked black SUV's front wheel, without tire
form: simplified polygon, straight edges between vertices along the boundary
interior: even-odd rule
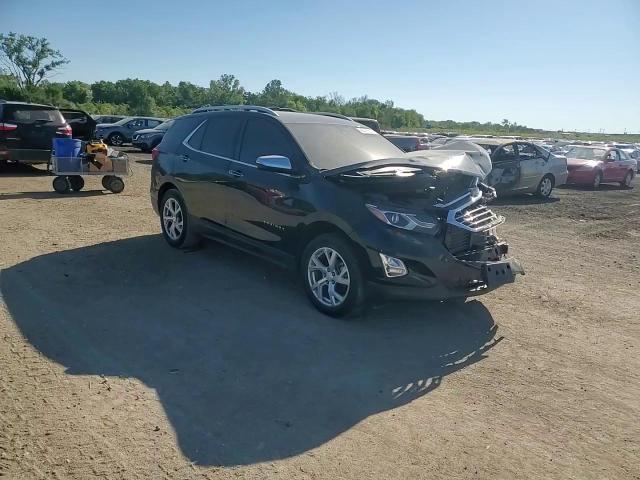
[[[328,307],[344,303],[349,294],[351,277],[342,256],[333,248],[321,247],[309,258],[309,287],[316,299]]]

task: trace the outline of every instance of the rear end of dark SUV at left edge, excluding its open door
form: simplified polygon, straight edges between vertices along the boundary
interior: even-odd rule
[[[55,107],[29,104],[3,105],[3,134],[9,158],[16,161],[48,161],[58,129],[65,125]]]

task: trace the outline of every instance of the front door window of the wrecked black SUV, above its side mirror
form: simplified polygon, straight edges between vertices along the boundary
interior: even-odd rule
[[[263,155],[283,155],[292,163],[299,156],[297,148],[283,128],[267,119],[253,118],[247,122],[240,161],[254,164]]]

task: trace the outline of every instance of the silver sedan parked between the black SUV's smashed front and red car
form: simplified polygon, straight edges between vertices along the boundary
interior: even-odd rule
[[[487,183],[498,194],[533,193],[549,197],[553,188],[567,182],[567,158],[524,140],[470,138],[491,155]]]

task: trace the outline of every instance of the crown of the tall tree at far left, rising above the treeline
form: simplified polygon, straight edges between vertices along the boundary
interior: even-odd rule
[[[56,70],[69,63],[46,38],[0,33],[0,62],[16,79],[18,88],[32,91]]]

